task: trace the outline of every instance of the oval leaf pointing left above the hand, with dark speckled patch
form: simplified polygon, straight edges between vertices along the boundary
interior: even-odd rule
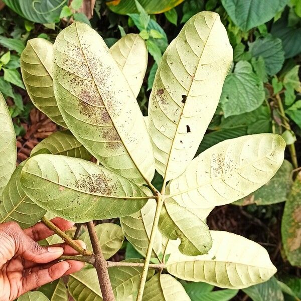
[[[30,158],[21,182],[35,203],[74,222],[126,216],[139,211],[147,200],[138,185],[119,174],[59,155]]]

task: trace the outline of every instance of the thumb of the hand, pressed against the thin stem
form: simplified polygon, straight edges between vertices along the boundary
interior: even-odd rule
[[[15,254],[24,259],[36,262],[47,263],[53,261],[64,253],[62,247],[42,247],[28,235],[26,235],[17,223],[6,223],[6,236],[14,243]]]

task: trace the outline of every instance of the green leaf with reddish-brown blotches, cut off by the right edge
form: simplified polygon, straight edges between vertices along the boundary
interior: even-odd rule
[[[301,173],[298,173],[287,196],[281,222],[285,255],[291,265],[301,262]]]

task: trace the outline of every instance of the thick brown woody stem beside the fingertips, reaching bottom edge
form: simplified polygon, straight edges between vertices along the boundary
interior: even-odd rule
[[[95,254],[94,267],[97,271],[97,276],[98,276],[98,281],[99,281],[103,301],[115,301],[115,297],[114,297],[114,293],[113,293],[113,289],[111,286],[111,281],[108,273],[108,264],[103,257],[93,221],[88,222],[87,227],[90,235],[93,252]]]

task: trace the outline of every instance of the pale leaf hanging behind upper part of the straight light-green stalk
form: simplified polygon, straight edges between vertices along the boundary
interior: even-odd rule
[[[120,218],[120,224],[127,240],[142,254],[146,254],[150,232],[155,218],[156,201],[150,199],[140,211]],[[162,248],[162,234],[156,230],[152,257],[159,256]]]

